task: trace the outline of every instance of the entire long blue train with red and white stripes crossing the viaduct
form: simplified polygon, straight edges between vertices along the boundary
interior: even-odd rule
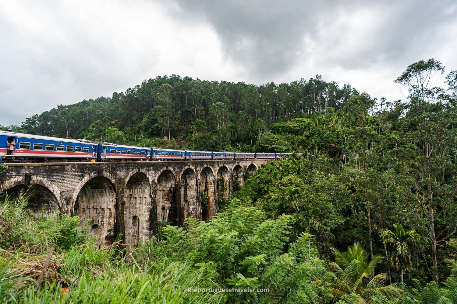
[[[216,152],[136,147],[0,131],[0,162],[282,159],[292,153]]]

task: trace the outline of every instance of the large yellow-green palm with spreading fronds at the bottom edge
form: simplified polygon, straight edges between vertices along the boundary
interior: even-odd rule
[[[368,260],[367,252],[355,243],[346,252],[334,249],[335,262],[330,267],[335,273],[331,284],[335,301],[338,301],[342,294],[359,294],[360,304],[371,303],[370,296],[377,291],[383,294],[393,294],[401,291],[398,283],[385,285],[388,281],[386,273],[375,275],[377,264],[381,263],[383,257],[379,254],[373,255]]]

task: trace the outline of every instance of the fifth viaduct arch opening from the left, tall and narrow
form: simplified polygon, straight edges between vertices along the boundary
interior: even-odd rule
[[[187,168],[181,175],[181,207],[184,218],[202,218],[202,208],[197,206],[197,177],[194,170]]]

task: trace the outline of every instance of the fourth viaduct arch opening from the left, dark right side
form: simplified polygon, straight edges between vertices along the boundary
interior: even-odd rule
[[[160,173],[157,179],[157,218],[158,222],[178,224],[178,206],[176,203],[176,180],[170,170]]]

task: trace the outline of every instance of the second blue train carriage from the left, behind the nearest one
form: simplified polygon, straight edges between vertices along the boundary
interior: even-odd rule
[[[127,146],[101,142],[98,144],[97,158],[101,161],[108,160],[132,160],[147,161],[151,155],[150,148]]]

